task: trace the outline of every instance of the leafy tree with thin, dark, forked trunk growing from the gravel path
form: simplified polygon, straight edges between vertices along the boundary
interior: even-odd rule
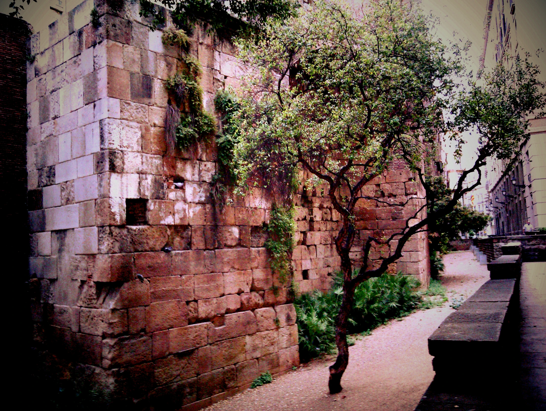
[[[468,45],[448,53],[430,28],[411,2],[375,0],[357,11],[316,2],[299,17],[272,23],[238,43],[241,59],[253,68],[237,116],[233,166],[241,186],[267,188],[290,202],[294,181],[305,174],[307,186],[327,187],[325,195],[340,215],[335,247],[343,297],[335,323],[338,355],[330,366],[332,394],[341,391],[348,364],[355,288],[386,272],[412,236],[425,233],[429,222],[479,186],[488,158],[513,162],[529,136],[524,116],[545,104],[538,68],[527,58],[513,61],[510,69],[497,66],[478,84],[463,76],[461,54]],[[469,129],[479,133],[476,162],[446,201],[430,178],[440,136],[449,132],[461,146],[461,133]],[[424,194],[385,200],[369,189],[395,159],[418,176]],[[471,175],[477,180],[466,186]],[[393,205],[412,210],[403,228],[367,237],[363,258],[352,260],[356,211]],[[372,263],[370,251],[384,245],[388,255]]]

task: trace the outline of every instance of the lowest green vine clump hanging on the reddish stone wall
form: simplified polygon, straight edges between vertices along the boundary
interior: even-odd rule
[[[285,283],[292,274],[292,251],[294,250],[294,208],[289,209],[274,204],[271,207],[269,223],[264,224],[269,239],[264,247],[271,255],[271,268]]]

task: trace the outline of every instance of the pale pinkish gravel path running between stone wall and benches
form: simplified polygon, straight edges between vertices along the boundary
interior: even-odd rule
[[[314,360],[271,384],[247,390],[213,404],[207,411],[277,410],[413,410],[434,378],[427,339],[453,311],[452,299],[466,299],[489,279],[471,252],[444,257],[442,283],[450,301],[444,307],[418,311],[393,320],[360,338],[349,349],[343,391],[328,394],[328,366],[333,357]]]

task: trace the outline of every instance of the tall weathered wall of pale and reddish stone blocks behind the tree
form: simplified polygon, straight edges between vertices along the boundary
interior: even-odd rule
[[[215,143],[168,152],[165,80],[181,64],[180,50],[162,43],[161,29],[151,31],[138,7],[86,0],[29,40],[34,343],[73,358],[114,398],[206,406],[261,372],[299,363],[295,310],[290,283],[271,272],[264,248],[267,193],[234,196],[217,212],[209,195]],[[232,46],[199,27],[189,53],[203,66],[212,113],[216,90],[238,87],[244,68]],[[401,228],[411,209],[397,204],[422,194],[403,166],[366,189],[393,205],[363,204],[361,239]],[[338,218],[321,193],[296,196],[300,291],[327,289],[339,267]],[[420,233],[408,242],[393,270],[426,284],[425,240]],[[389,252],[377,247],[372,255]]]

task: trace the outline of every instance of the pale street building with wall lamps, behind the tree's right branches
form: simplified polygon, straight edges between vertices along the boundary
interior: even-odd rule
[[[518,41],[516,11],[513,0],[489,0],[480,68],[486,62],[509,64],[509,57],[531,51]],[[529,122],[531,136],[513,170],[506,173],[507,163],[501,160],[486,165],[492,234],[522,234],[527,220],[535,228],[546,227],[546,118]]]

